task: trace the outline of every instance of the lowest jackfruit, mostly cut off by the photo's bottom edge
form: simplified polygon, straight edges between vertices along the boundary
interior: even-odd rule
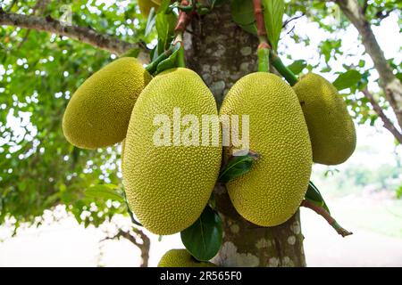
[[[216,267],[216,265],[197,261],[186,249],[171,249],[162,256],[158,267]]]

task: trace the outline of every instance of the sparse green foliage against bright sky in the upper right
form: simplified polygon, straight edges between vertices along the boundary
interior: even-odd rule
[[[320,53],[322,58],[320,61],[309,61],[305,71],[313,70],[314,72],[320,71],[322,73],[328,73],[325,77],[331,77],[333,74],[338,75],[338,82],[336,84],[339,90],[342,90],[342,94],[345,95],[346,101],[351,114],[359,124],[369,124],[373,126],[378,119],[377,114],[373,111],[373,108],[369,101],[361,94],[361,91],[368,85],[370,81],[374,83],[376,77],[373,72],[373,63],[366,61],[362,54],[348,54],[345,52],[345,43],[342,38],[343,31],[351,24],[346,16],[340,11],[339,6],[334,2],[326,1],[299,1],[288,0],[286,8],[286,14],[288,19],[295,15],[305,15],[309,21],[316,23],[316,25],[328,35],[322,38],[321,45],[316,48],[317,53]],[[372,25],[380,25],[381,21],[386,19],[390,13],[396,13],[399,18],[402,3],[397,0],[387,1],[364,1],[358,0],[362,9],[365,10],[365,17]],[[365,5],[366,4],[366,5]],[[310,45],[310,37],[300,37],[297,33],[292,31],[292,26],[297,25],[297,20],[289,23],[287,35],[282,33],[282,37],[291,37],[295,44]],[[290,29],[290,30],[289,30]],[[348,56],[360,56],[358,62],[345,61],[342,65],[342,69],[335,68],[337,66],[336,61],[339,58],[348,58]],[[293,59],[291,54],[287,54],[289,59]],[[295,57],[295,60],[301,60],[299,57]],[[305,59],[307,60],[307,59]],[[322,62],[323,60],[323,62]],[[396,74],[400,74],[402,70],[402,62],[396,62],[394,59],[389,59],[389,64],[395,69]],[[389,108],[388,102],[385,100],[385,94],[378,92],[375,94],[375,99],[379,102],[382,109],[387,110]]]

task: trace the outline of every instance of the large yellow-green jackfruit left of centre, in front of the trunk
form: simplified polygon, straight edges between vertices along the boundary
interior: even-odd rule
[[[217,116],[214,96],[190,69],[170,69],[156,76],[138,98],[125,140],[123,179],[130,208],[148,231],[167,235],[180,232],[201,215],[214,189],[222,147],[155,146],[160,126],[155,115],[172,121],[173,108],[181,117]],[[187,126],[181,126],[180,134]],[[202,127],[199,127],[201,137]],[[220,130],[219,130],[220,132]],[[172,140],[173,141],[173,135]]]

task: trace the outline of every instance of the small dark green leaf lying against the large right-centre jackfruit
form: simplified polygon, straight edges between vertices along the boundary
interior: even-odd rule
[[[249,152],[243,156],[233,156],[229,160],[226,167],[222,169],[218,181],[221,183],[228,183],[241,175],[250,171],[254,161],[258,159],[258,154]]]

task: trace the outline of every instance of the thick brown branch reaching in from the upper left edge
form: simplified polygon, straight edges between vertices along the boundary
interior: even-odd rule
[[[65,25],[59,20],[54,20],[51,17],[40,18],[37,16],[7,13],[0,8],[0,25],[34,28],[39,31],[46,31],[59,36],[71,37],[72,39],[96,46],[111,53],[122,54],[135,48],[147,52],[147,46],[142,43],[128,43],[117,37],[99,34],[93,28]],[[147,58],[145,53],[140,54],[140,57],[143,61]]]

